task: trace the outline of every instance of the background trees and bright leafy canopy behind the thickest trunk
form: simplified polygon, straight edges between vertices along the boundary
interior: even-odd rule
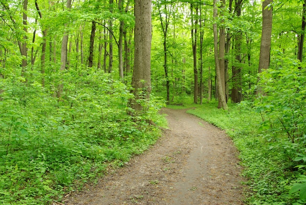
[[[224,102],[252,99],[257,74],[281,66],[283,54],[303,63],[304,0],[215,3],[214,17],[213,2],[153,1],[152,88],[169,104],[192,95],[194,103],[218,98],[224,108]],[[137,67],[134,5],[131,0],[1,1],[1,77],[30,77],[56,92],[59,73],[102,69],[130,84]],[[214,28],[218,63],[210,51]]]

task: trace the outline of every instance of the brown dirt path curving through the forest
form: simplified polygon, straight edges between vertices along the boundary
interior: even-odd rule
[[[66,205],[243,205],[231,139],[185,111],[163,109],[169,129],[150,150]]]

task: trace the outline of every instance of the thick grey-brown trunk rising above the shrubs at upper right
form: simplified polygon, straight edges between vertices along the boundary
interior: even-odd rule
[[[272,2],[273,0],[262,1],[262,41],[259,56],[258,72],[262,69],[269,68],[270,65],[270,49],[272,35]],[[269,7],[267,7],[270,4]]]

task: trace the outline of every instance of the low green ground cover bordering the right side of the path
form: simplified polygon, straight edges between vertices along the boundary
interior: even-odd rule
[[[172,106],[175,108],[175,106]],[[177,106],[176,106],[177,107]],[[185,108],[191,106],[180,106]],[[295,168],[296,144],[281,133],[271,132],[262,123],[253,103],[230,104],[229,110],[217,109],[217,102],[195,105],[187,112],[224,129],[240,151],[242,175],[247,179],[247,199],[250,205],[303,204],[292,191],[301,182],[303,170]],[[306,179],[306,178],[304,178]],[[299,187],[297,188],[299,189]]]

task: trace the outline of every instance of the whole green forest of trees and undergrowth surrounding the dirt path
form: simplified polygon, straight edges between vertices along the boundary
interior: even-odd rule
[[[167,106],[232,137],[245,204],[306,204],[305,27],[306,0],[0,0],[0,203],[124,166]]]

